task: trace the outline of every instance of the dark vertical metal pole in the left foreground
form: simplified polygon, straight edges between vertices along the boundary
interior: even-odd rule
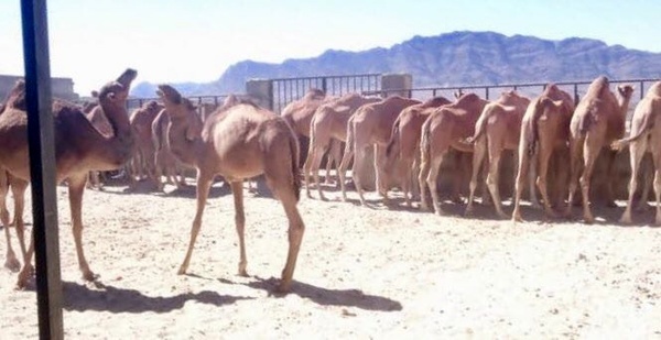
[[[41,339],[62,339],[62,282],[46,0],[21,0]]]

